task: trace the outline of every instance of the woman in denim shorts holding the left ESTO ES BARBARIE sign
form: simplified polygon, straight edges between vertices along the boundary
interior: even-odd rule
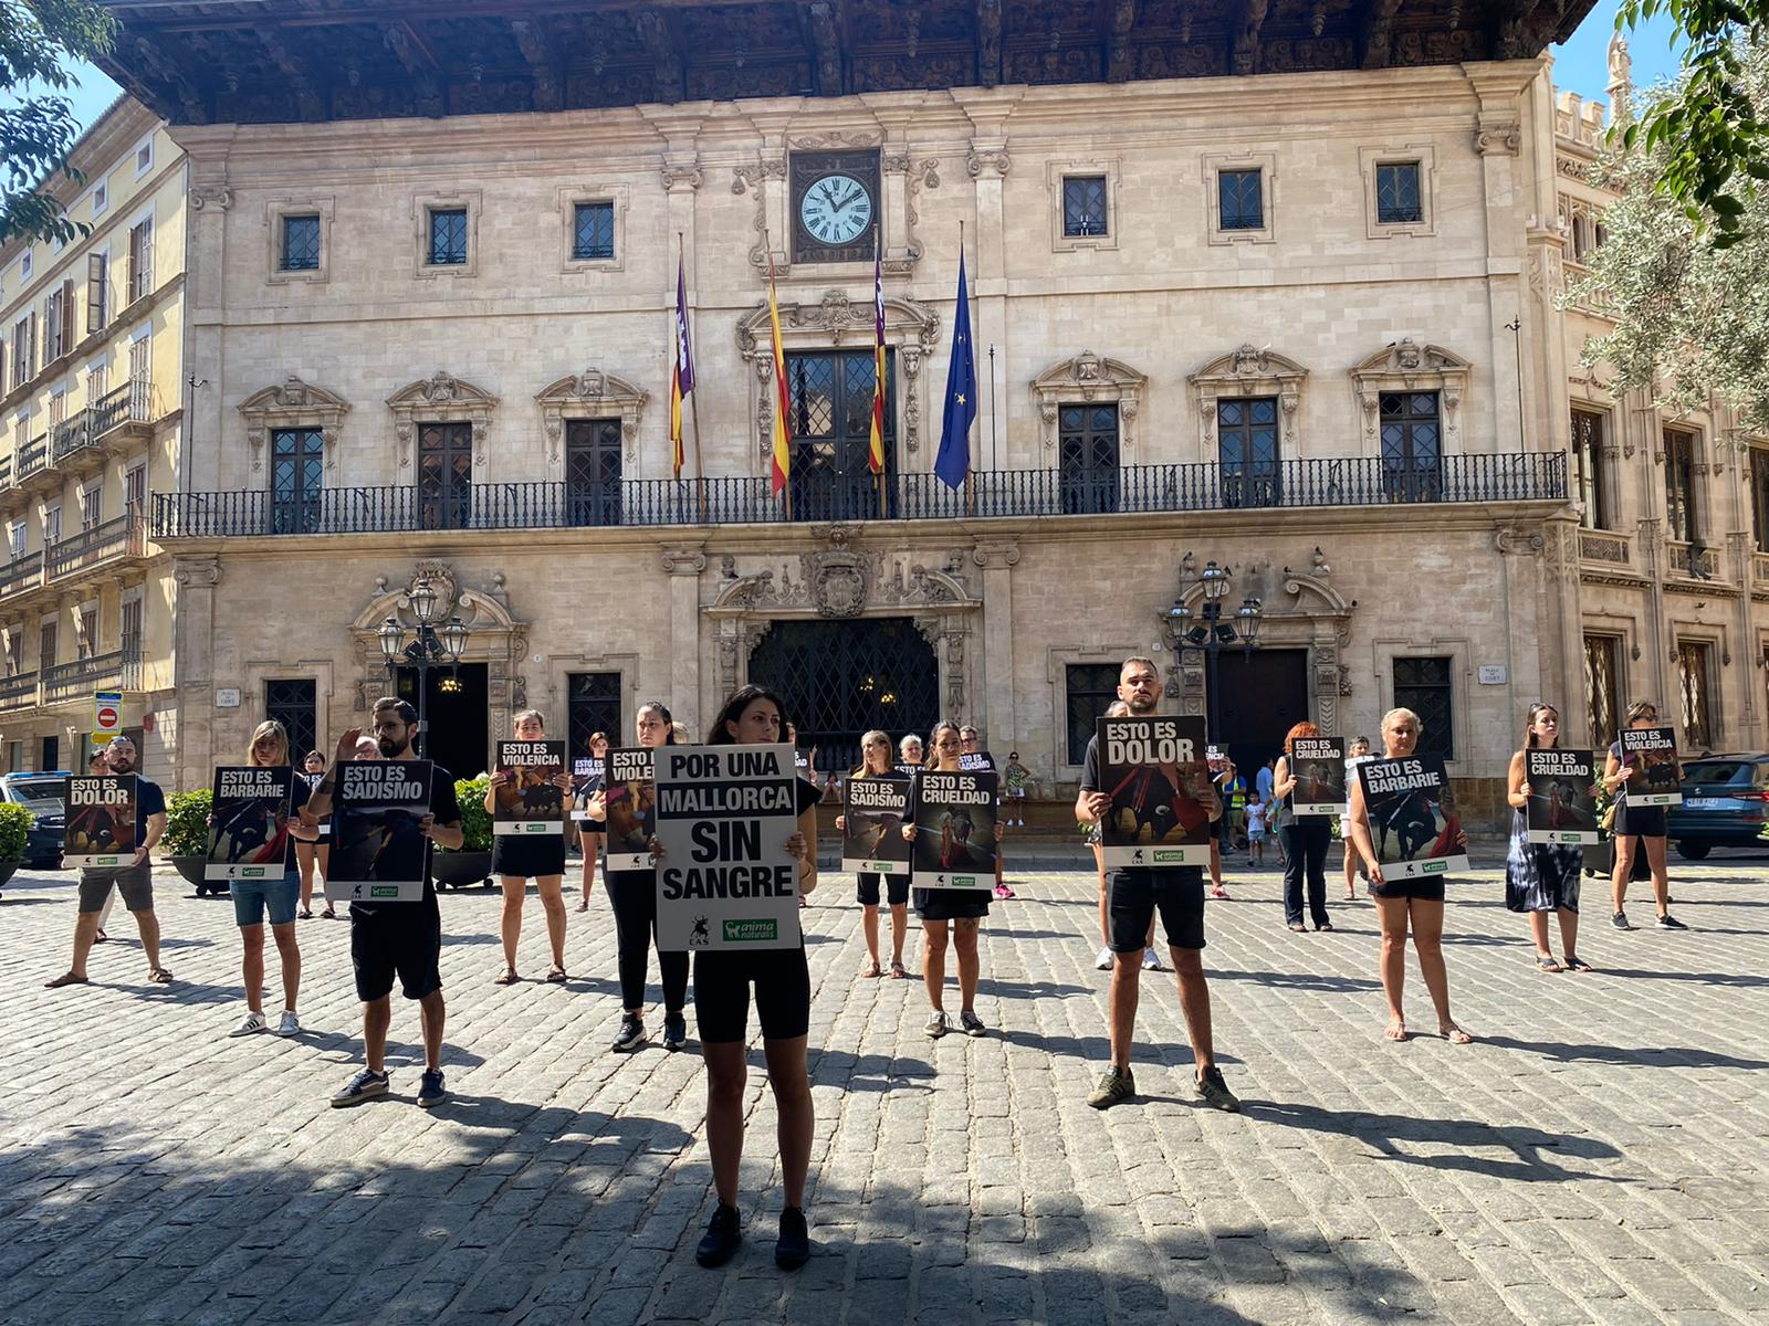
[[[230,863],[228,893],[234,896],[234,923],[239,926],[246,956],[246,1017],[228,1036],[269,1031],[264,1017],[264,918],[271,916],[271,937],[283,967],[283,1011],[276,1020],[278,1036],[301,1033],[295,995],[301,994],[301,944],[295,941],[295,902],[301,896],[301,872],[295,842],[318,838],[318,826],[308,829],[290,812],[294,769],[288,764],[288,732],[274,718],[258,723],[246,748],[244,769],[216,769],[214,815],[209,861],[218,856]],[[306,783],[301,783],[306,790]],[[228,792],[234,792],[232,808]],[[306,801],[306,797],[302,797]],[[241,822],[244,817],[246,822]],[[269,873],[249,873],[239,865],[244,849],[257,843]]]

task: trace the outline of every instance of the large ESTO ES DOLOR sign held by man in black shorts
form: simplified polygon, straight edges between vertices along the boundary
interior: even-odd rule
[[[1208,866],[1210,766],[1201,718],[1102,718],[1095,737],[1107,866]]]

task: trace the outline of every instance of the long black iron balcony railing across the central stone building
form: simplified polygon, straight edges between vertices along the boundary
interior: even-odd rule
[[[1566,456],[1445,456],[1431,467],[1376,458],[1265,467],[1130,465],[1118,470],[978,470],[962,488],[932,474],[793,479],[796,522],[1095,516],[1169,511],[1390,507],[1440,502],[1566,500]],[[619,484],[502,483],[448,490],[327,488],[301,500],[272,493],[154,493],[152,537],[412,534],[649,525],[766,525],[787,520],[762,477]]]

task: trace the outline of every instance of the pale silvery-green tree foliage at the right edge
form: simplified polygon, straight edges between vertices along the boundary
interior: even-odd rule
[[[1741,44],[1730,67],[1750,113],[1769,113],[1769,46]],[[1659,122],[1684,95],[1686,83],[1645,94],[1642,122]],[[1596,166],[1594,177],[1620,198],[1566,302],[1603,309],[1615,331],[1592,338],[1583,362],[1606,362],[1617,394],[1645,389],[1679,414],[1718,396],[1746,431],[1769,433],[1769,200],[1741,191],[1725,242],[1712,242],[1700,209],[1663,184],[1681,152],[1672,136],[1645,134]]]

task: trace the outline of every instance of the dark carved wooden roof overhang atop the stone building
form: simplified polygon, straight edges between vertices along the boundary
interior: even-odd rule
[[[1594,0],[99,0],[177,124],[1532,58]]]

